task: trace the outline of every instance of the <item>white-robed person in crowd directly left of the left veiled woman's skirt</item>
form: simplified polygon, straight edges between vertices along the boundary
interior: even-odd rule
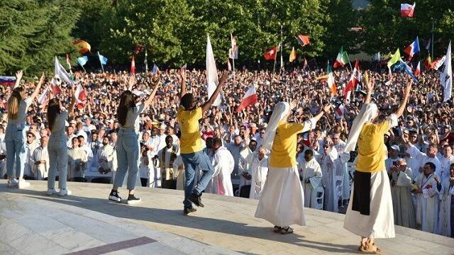
[[[253,141],[250,141],[249,145]],[[259,148],[258,152],[254,154],[253,162],[250,165],[251,173],[251,184],[249,198],[260,199],[260,193],[262,192],[265,181],[267,180],[268,174],[268,157],[266,149]]]

